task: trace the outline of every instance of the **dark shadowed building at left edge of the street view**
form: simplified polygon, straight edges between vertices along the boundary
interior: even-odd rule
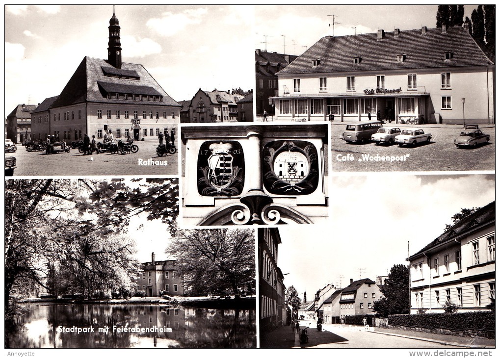
[[[259,228],[257,236],[259,329],[260,332],[265,332],[287,323],[284,276],[277,265],[277,250],[281,236],[277,228]]]

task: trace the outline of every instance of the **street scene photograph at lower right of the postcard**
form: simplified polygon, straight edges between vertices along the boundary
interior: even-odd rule
[[[327,228],[258,229],[260,347],[494,347],[494,175],[332,184]]]

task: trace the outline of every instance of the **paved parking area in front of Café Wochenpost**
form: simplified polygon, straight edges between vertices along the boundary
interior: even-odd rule
[[[375,145],[373,142],[347,143],[340,136],[345,129],[344,123],[333,123],[331,126],[331,160],[334,171],[459,171],[459,170],[494,170],[495,127],[480,125],[479,128],[490,135],[486,144],[477,148],[456,148],[453,139],[462,129],[457,124],[424,124],[418,126],[424,132],[431,133],[429,143],[415,147],[392,145]],[[387,127],[400,129],[415,127],[414,125],[386,123]],[[363,154],[369,159],[363,159]],[[375,160],[379,156],[393,156],[396,160]],[[352,160],[348,160],[352,158]],[[347,159],[347,160],[346,160]],[[370,160],[371,159],[371,160]],[[390,160],[390,159],[389,159]]]

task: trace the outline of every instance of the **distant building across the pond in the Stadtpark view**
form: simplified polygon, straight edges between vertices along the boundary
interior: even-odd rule
[[[142,272],[135,283],[136,290],[144,291],[148,297],[184,294],[183,280],[177,275],[175,260],[156,261],[154,252],[151,253],[151,261],[142,263]]]

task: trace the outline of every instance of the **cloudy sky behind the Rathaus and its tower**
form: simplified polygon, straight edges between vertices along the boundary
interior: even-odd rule
[[[107,58],[112,12],[6,5],[5,116],[59,94],[84,56]],[[253,88],[253,6],[117,5],[116,17],[122,60],[143,64],[173,99],[191,99],[200,87]]]

